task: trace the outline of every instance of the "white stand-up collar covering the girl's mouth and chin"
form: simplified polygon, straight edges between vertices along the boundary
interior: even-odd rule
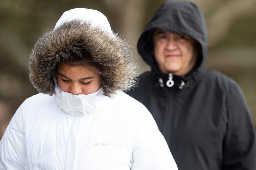
[[[87,116],[100,111],[109,97],[105,96],[102,87],[88,95],[73,95],[58,88],[55,82],[55,97],[59,107],[73,116]]]

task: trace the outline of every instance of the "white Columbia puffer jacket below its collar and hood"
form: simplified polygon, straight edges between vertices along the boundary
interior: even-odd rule
[[[54,96],[26,99],[1,139],[0,169],[177,169],[141,103],[102,90],[95,103],[96,113],[78,116],[63,111]]]

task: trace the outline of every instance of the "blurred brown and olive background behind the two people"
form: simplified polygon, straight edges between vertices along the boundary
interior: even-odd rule
[[[256,0],[191,0],[201,8],[208,27],[206,67],[241,86],[256,125]],[[28,60],[37,39],[53,29],[66,10],[101,11],[115,32],[134,46],[163,0],[1,0],[0,2],[0,138],[19,105],[37,94],[28,79]]]

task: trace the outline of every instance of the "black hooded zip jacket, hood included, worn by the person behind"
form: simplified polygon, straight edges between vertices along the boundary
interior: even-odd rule
[[[198,41],[196,65],[187,75],[159,72],[152,35],[155,28]],[[227,76],[204,68],[207,30],[195,3],[166,2],[146,25],[138,52],[151,66],[139,85],[127,92],[153,115],[179,170],[256,169],[255,132],[243,93]],[[163,86],[163,87],[162,87]]]

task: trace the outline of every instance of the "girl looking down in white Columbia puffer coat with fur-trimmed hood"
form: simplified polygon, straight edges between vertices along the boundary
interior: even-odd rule
[[[0,142],[0,169],[177,169],[136,83],[129,44],[99,11],[66,11],[35,44],[26,99]],[[145,94],[146,95],[146,94]]]

